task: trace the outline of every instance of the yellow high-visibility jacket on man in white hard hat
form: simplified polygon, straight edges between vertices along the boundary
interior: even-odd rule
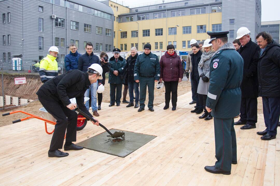
[[[56,57],[48,54],[47,57],[41,60],[39,74],[43,83],[58,75],[58,67],[55,59]]]

